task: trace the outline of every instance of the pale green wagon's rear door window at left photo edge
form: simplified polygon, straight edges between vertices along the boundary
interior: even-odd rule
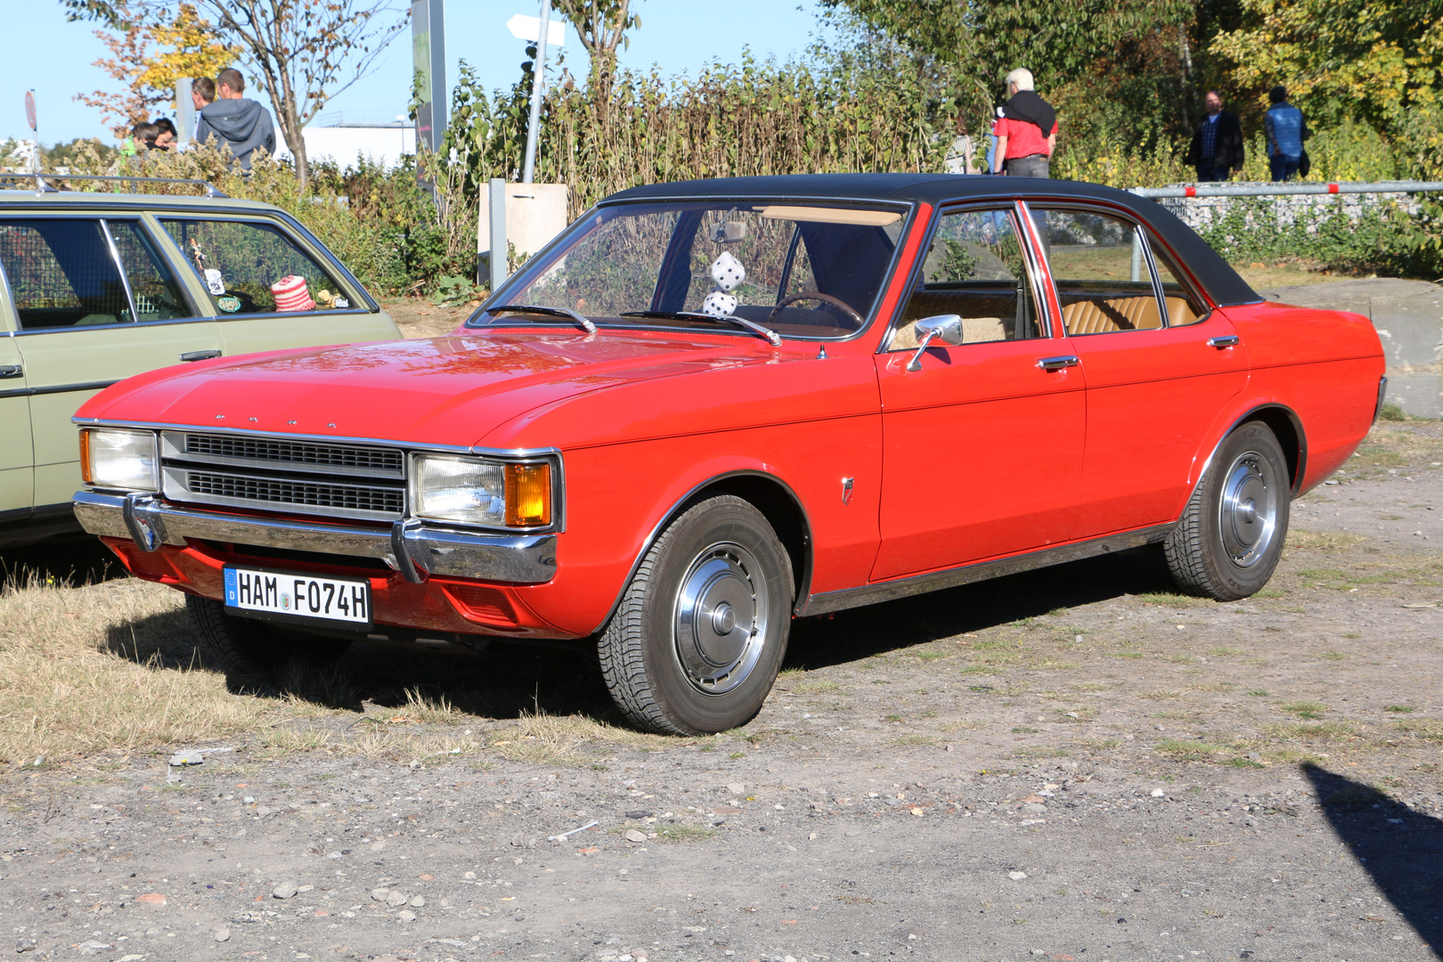
[[[195,313],[134,221],[0,221],[0,265],[22,330],[175,320]]]

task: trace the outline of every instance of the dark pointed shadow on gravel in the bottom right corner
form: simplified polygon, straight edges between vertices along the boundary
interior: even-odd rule
[[[1315,764],[1304,764],[1303,775],[1338,838],[1434,956],[1443,958],[1443,819]]]

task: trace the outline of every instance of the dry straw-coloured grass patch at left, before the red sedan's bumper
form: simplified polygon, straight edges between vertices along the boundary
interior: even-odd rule
[[[219,674],[167,661],[189,633],[170,588],[12,578],[0,625],[0,763],[192,746],[254,730],[267,714],[227,692]]]

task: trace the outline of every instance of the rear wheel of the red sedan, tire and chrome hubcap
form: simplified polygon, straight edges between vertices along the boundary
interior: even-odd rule
[[[1218,447],[1163,550],[1177,587],[1218,601],[1268,583],[1287,538],[1291,480],[1271,428],[1248,421]]]

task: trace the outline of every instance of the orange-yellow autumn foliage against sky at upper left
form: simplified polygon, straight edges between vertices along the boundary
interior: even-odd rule
[[[146,20],[121,0],[107,29],[95,36],[110,49],[110,58],[95,61],[123,91],[76,94],[75,100],[95,107],[115,123],[111,133],[124,137],[130,128],[150,118],[154,108],[175,104],[175,84],[185,76],[215,76],[229,66],[240,50],[222,43],[196,9],[182,3],[170,16]]]

